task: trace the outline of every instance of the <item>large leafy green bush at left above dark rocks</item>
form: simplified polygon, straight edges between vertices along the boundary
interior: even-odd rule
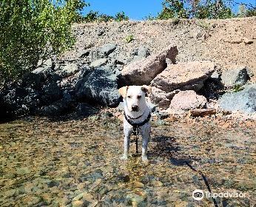
[[[70,48],[71,24],[81,21],[84,6],[81,0],[1,0],[0,81],[15,81],[39,59]]]

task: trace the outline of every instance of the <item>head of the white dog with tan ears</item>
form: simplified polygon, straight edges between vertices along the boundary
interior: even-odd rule
[[[118,89],[118,92],[124,98],[124,104],[130,112],[141,112],[146,106],[146,93],[151,92],[150,86],[124,86]]]

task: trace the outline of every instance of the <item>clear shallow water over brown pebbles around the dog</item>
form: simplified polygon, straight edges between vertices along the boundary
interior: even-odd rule
[[[207,188],[186,163],[212,191],[245,193],[216,198],[218,206],[254,206],[255,123],[152,125],[149,163],[141,163],[135,143],[129,160],[119,159],[122,125],[114,118],[1,124],[1,206],[213,206],[211,198],[192,198]]]

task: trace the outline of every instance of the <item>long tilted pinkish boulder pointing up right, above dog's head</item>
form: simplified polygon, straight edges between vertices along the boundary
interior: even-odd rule
[[[156,75],[161,73],[167,66],[166,58],[175,63],[175,58],[178,55],[176,46],[168,47],[166,50],[157,55],[150,55],[147,58],[134,61],[124,67],[121,71],[120,84],[121,85],[142,85],[150,84]]]

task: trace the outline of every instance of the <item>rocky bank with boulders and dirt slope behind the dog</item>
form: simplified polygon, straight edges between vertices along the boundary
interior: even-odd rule
[[[253,28],[245,29],[245,33],[233,32],[253,21],[255,18],[74,25],[77,42],[72,50],[38,63],[38,68],[21,81],[1,89],[1,119],[21,115],[92,115],[101,106],[117,107],[121,103],[118,88],[132,84],[152,86],[148,101],[158,114],[182,115],[193,109],[215,109],[223,115],[242,113],[243,118],[255,118],[255,52],[228,63],[240,50],[244,54],[255,49],[256,37],[249,34]],[[158,33],[157,28],[166,31]],[[147,37],[146,33],[152,35]],[[231,35],[231,39],[250,41],[223,41],[216,38],[219,33],[223,33],[223,38]],[[135,39],[125,42],[127,34]],[[172,44],[153,34],[169,35]],[[217,46],[210,45],[214,40]],[[217,53],[212,52],[211,57],[208,50],[220,44],[223,50],[218,53],[226,55],[226,48],[235,47],[232,52],[236,55],[216,58]],[[195,53],[188,55],[189,51]]]

